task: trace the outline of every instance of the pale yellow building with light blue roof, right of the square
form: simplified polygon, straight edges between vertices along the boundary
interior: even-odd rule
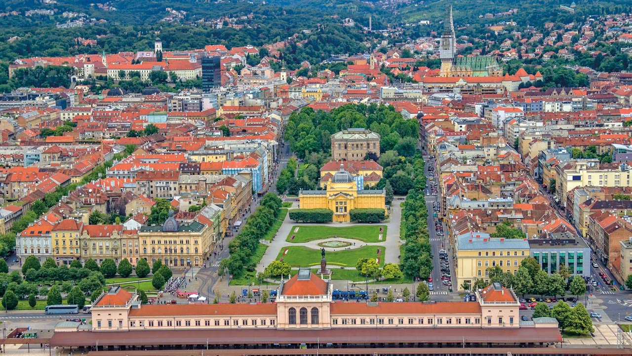
[[[463,283],[471,286],[478,278],[489,282],[489,267],[516,274],[522,260],[529,257],[529,243],[526,239],[490,238],[486,232],[467,232],[456,238],[454,251],[456,286],[462,291]]]

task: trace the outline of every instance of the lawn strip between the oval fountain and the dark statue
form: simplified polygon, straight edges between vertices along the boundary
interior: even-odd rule
[[[380,266],[384,265],[384,256],[386,256],[386,248],[380,246],[363,246],[353,250],[341,250],[327,252],[327,264],[340,265],[343,267],[355,268],[359,258],[375,258],[377,257],[377,249],[380,249]],[[283,252],[288,250],[287,255]],[[288,262],[293,267],[308,267],[320,264],[320,250],[313,250],[305,246],[289,246],[284,247],[279,252],[277,260]]]

